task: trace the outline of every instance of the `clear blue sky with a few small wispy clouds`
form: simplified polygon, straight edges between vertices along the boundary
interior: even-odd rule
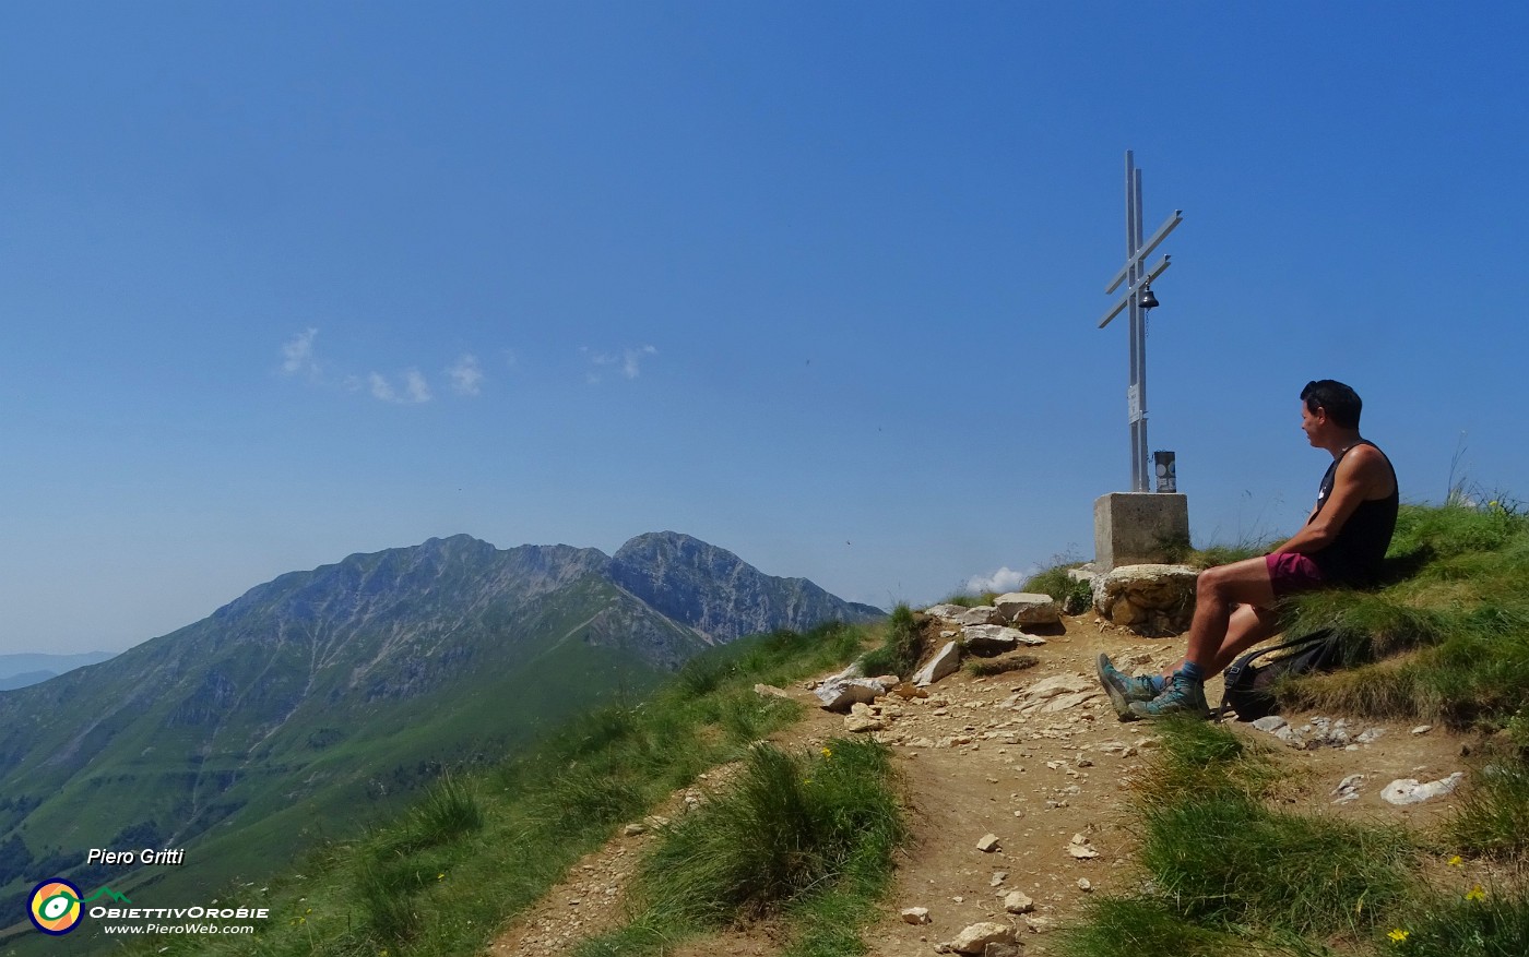
[[[1095,327],[1127,148],[1147,229],[1185,216],[1150,443],[1199,543],[1304,518],[1312,378],[1405,498],[1453,462],[1529,497],[1524,35],[1517,3],[6,5],[0,653],[457,532],[674,529],[882,607],[1087,558],[1130,485]]]

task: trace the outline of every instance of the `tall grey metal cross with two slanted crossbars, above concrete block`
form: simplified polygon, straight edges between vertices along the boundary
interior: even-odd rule
[[[1174,226],[1183,222],[1183,209],[1174,209],[1173,216],[1157,226],[1151,238],[1142,242],[1142,171],[1136,168],[1131,151],[1125,151],[1125,264],[1115,274],[1104,292],[1110,294],[1125,283],[1125,292],[1119,301],[1099,320],[1099,329],[1110,324],[1122,309],[1128,309],[1131,338],[1131,376],[1125,391],[1127,416],[1131,427],[1131,491],[1150,492],[1148,469],[1151,460],[1147,456],[1147,309],[1156,306],[1148,286],[1154,278],[1168,269],[1168,257],[1147,269],[1147,257],[1151,251],[1173,232]],[[1145,295],[1144,295],[1145,294]],[[1145,307],[1142,300],[1148,298]]]

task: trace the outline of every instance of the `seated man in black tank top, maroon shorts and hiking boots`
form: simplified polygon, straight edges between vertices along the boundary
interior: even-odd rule
[[[1333,463],[1294,538],[1261,558],[1206,569],[1196,584],[1190,648],[1161,676],[1130,677],[1099,656],[1099,682],[1122,722],[1209,715],[1205,680],[1278,631],[1275,602],[1312,589],[1375,584],[1396,529],[1396,471],[1359,436],[1359,396],[1321,379],[1301,390],[1301,430]]]

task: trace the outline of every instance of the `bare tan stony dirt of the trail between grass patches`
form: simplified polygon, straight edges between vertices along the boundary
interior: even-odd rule
[[[930,636],[937,637],[939,628],[931,624]],[[913,839],[885,914],[864,933],[873,955],[931,954],[980,922],[1012,928],[1026,954],[1047,954],[1050,931],[1073,917],[1089,894],[1122,891],[1141,879],[1125,801],[1156,738],[1150,723],[1116,719],[1093,677],[1093,662],[1107,651],[1122,668],[1128,662],[1131,670],[1157,670],[1182,654],[1183,642],[1144,639],[1092,613],[1063,618],[1044,631],[1044,641],[1023,648],[1037,659],[1031,668],[992,677],[957,671],[930,685],[928,697],[882,697],[868,712],[859,708],[861,715],[823,711],[806,686],[786,689],[810,709],[800,725],[775,735],[780,746],[818,748],[849,734],[850,723],[881,725],[861,734],[888,743],[902,772]],[[1219,682],[1209,691],[1214,706]],[[1431,789],[1445,793],[1413,804],[1382,798],[1398,780],[1413,780],[1428,792],[1427,784],[1466,770],[1463,740],[1442,729],[1286,717],[1287,726],[1274,731],[1234,726],[1278,751],[1290,769],[1278,800],[1294,807],[1423,827],[1456,800],[1445,786]],[[726,769],[714,770],[657,813],[683,813],[700,787],[725,775]],[[1394,798],[1407,787],[1390,790]],[[564,954],[576,940],[619,922],[625,882],[651,839],[651,821],[628,826],[506,928],[489,952]],[[927,914],[905,916],[908,908]],[[682,954],[764,957],[777,951],[774,928],[752,926],[696,942]]]

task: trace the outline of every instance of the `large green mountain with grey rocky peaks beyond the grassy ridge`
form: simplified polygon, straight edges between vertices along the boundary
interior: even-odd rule
[[[878,615],[673,532],[613,558],[457,535],[292,572],[0,693],[0,907],[98,879],[89,847],[200,845],[173,878],[200,887],[257,873],[708,644]]]

